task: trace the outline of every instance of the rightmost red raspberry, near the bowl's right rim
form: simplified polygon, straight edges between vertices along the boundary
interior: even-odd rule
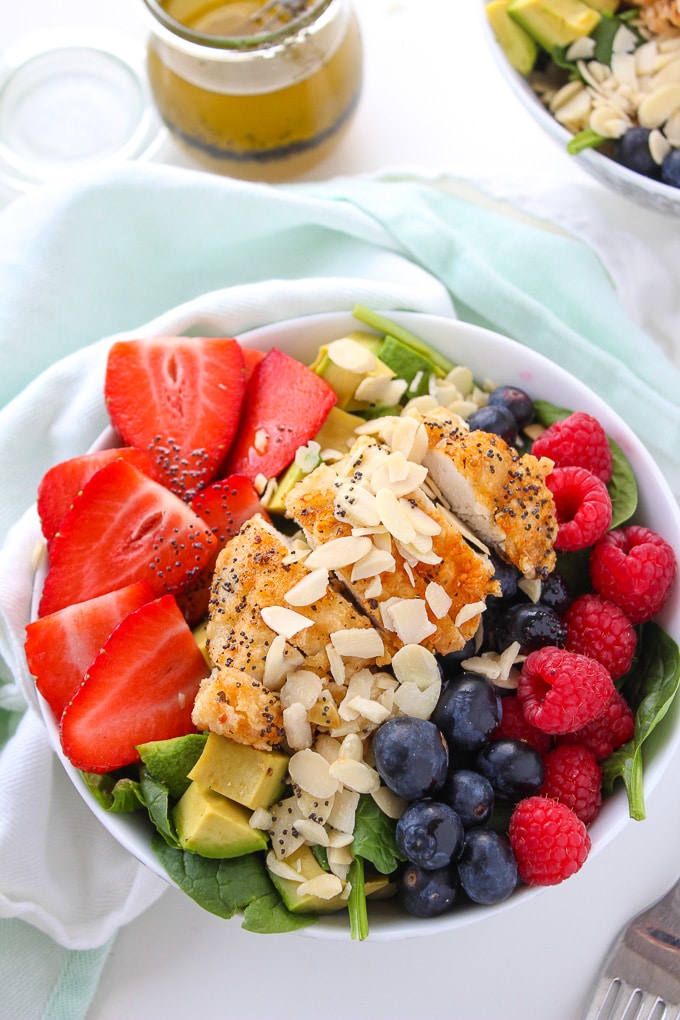
[[[592,586],[621,606],[631,623],[657,615],[670,595],[677,568],[668,542],[639,524],[605,534],[590,554]]]

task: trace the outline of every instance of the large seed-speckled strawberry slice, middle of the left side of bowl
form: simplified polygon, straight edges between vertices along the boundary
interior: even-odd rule
[[[177,496],[113,460],[75,498],[50,546],[40,615],[147,580],[154,595],[189,588],[214,537]]]

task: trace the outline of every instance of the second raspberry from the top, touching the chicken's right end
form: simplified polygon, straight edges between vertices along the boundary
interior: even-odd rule
[[[612,523],[612,500],[604,481],[585,467],[555,467],[545,478],[558,518],[555,548],[586,549]]]

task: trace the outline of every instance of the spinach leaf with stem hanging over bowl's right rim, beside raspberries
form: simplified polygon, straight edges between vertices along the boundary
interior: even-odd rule
[[[658,623],[645,623],[638,636],[637,660],[622,693],[635,713],[635,733],[603,765],[604,786],[611,793],[622,779],[631,818],[645,817],[642,789],[642,747],[665,717],[680,686],[680,649]]]

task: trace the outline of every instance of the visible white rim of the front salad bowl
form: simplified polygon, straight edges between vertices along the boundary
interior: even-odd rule
[[[661,471],[645,448],[624,421],[591,390],[542,355],[515,341],[456,319],[415,312],[387,312],[390,319],[410,328],[452,361],[468,365],[477,378],[491,377],[496,384],[516,385],[532,397],[548,400],[561,407],[589,412],[598,418],[608,434],[625,451],[637,477],[639,507],[636,520],[662,534],[675,549],[680,549],[680,510]],[[219,334],[215,323],[215,336]],[[245,334],[239,340],[249,347],[268,350],[278,347],[299,360],[309,363],[317,348],[358,327],[357,320],[346,312],[324,313],[291,319]],[[364,328],[364,326],[362,326]],[[112,431],[107,430],[101,446],[110,446]],[[44,575],[43,575],[44,576]],[[42,577],[37,577],[37,597]],[[672,599],[660,615],[660,622],[680,643],[680,593],[676,584]],[[162,878],[168,878],[151,851],[152,830],[141,814],[113,815],[104,811],[90,795],[80,773],[64,758],[59,746],[58,728],[49,707],[42,703],[45,724],[51,743],[75,788],[108,831]],[[649,736],[645,755],[644,789],[649,794],[678,752],[680,744],[680,704],[674,703],[664,721]],[[591,856],[599,853],[629,823],[628,803],[623,788],[604,804],[590,827]],[[635,824],[644,824],[636,822]],[[587,868],[586,861],[584,867]],[[550,888],[518,888],[509,900],[494,907],[461,907],[438,918],[421,920],[401,912],[394,903],[372,904],[369,914],[370,937],[388,940],[429,935],[483,921],[500,911],[517,909],[527,898],[550,896]],[[320,917],[301,934],[315,938],[349,939],[349,922],[342,914]]]

